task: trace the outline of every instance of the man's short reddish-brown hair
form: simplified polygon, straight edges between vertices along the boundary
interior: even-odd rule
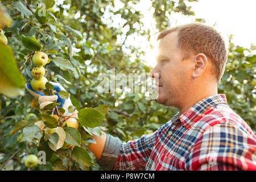
[[[174,31],[178,32],[178,48],[183,51],[183,59],[192,54],[204,53],[212,61],[220,83],[227,60],[225,42],[220,33],[203,23],[189,23],[160,32],[158,40]]]

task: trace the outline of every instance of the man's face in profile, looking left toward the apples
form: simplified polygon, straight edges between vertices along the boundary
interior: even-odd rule
[[[181,50],[177,48],[177,32],[164,36],[158,51],[157,64],[151,72],[159,89],[157,101],[163,105],[179,107],[189,89],[192,65],[189,59],[182,60]]]

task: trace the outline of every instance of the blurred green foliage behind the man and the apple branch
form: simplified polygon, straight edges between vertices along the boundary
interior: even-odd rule
[[[64,65],[57,66],[53,61],[47,65],[49,81],[60,82],[71,94],[73,105],[77,109],[110,105],[107,122],[100,126],[106,133],[119,137],[122,141],[140,137],[142,134],[154,132],[160,125],[166,123],[178,111],[174,107],[159,105],[156,101],[148,100],[144,94],[115,93],[99,94],[97,85],[99,73],[110,73],[115,68],[117,73],[149,73],[152,68],[145,64],[140,57],[143,49],[136,44],[127,46],[129,36],[144,36],[150,40],[150,28],[145,28],[141,21],[142,14],[134,9],[139,0],[120,0],[125,4],[121,9],[115,7],[113,0],[73,0],[62,3],[53,0],[20,1],[28,5],[27,10],[35,12],[39,3],[45,3],[48,11],[46,24],[41,24],[34,14],[15,6],[16,1],[2,1],[7,13],[13,15],[11,27],[5,27],[5,35],[9,46],[14,50],[14,57],[20,72],[26,79],[31,80],[30,69],[32,63],[26,60],[31,52],[21,43],[22,35],[35,36],[42,44],[43,52],[55,49],[54,57],[63,57],[71,63],[68,69]],[[184,15],[195,15],[187,7],[186,2],[193,0],[152,1],[154,19],[159,31],[170,26],[165,14],[179,12]],[[122,18],[122,22],[114,22],[115,17]],[[203,19],[197,19],[203,21]],[[137,26],[134,26],[136,24]],[[125,30],[127,31],[124,31]],[[150,44],[145,42],[145,44]],[[255,65],[256,47],[243,48],[229,41],[228,63],[218,88],[219,93],[225,93],[228,104],[247,124],[256,130],[255,115]],[[246,52],[246,54],[245,54]],[[134,59],[135,56],[135,59]],[[88,85],[88,80],[90,84]],[[11,98],[0,94],[0,167],[19,150],[3,170],[27,170],[24,166],[26,154],[37,154],[36,142],[19,142],[22,130],[9,138],[15,123],[22,119],[36,118],[38,110],[31,107],[33,97],[28,92],[23,96]],[[33,115],[33,114],[35,115]],[[89,151],[88,151],[89,152]],[[90,154],[92,156],[92,154]],[[92,156],[93,158],[93,156]],[[66,158],[57,156],[47,161],[46,165],[39,165],[32,170],[63,169]],[[72,168],[80,170],[82,168]],[[97,164],[86,170],[101,169]]]

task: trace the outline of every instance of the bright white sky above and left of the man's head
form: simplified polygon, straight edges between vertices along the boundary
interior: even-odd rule
[[[172,14],[170,18],[171,27],[195,22],[196,18],[204,18],[206,24],[214,26],[221,33],[226,44],[228,44],[228,35],[233,34],[233,42],[236,45],[248,48],[251,43],[256,45],[255,0],[199,0],[198,2],[187,3],[187,5],[192,6],[195,16],[184,16],[178,13]],[[150,6],[150,1],[141,0],[139,9],[145,15],[143,21],[146,26],[154,24],[149,10]],[[157,31],[152,30],[152,35],[155,32]],[[157,54],[157,35],[155,34],[151,39],[151,44],[156,45],[155,48],[151,50],[148,47],[147,55],[143,57],[152,67],[155,65]]]

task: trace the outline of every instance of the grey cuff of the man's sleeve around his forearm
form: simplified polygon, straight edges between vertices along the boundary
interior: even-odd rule
[[[97,163],[102,169],[107,171],[113,170],[115,163],[117,163],[121,145],[122,142],[118,137],[113,137],[112,135],[107,134],[106,144],[101,158],[97,160]]]

